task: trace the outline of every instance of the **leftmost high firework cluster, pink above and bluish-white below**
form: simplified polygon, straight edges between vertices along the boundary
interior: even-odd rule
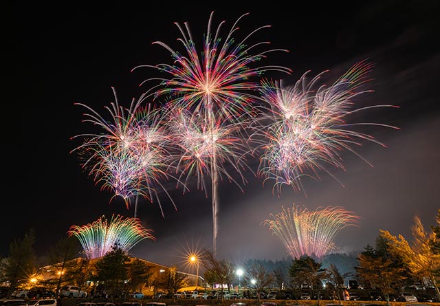
[[[169,171],[173,157],[163,124],[166,114],[153,107],[142,108],[134,99],[126,109],[119,105],[115,89],[113,94],[115,102],[111,107],[105,107],[111,120],[106,120],[91,107],[77,103],[89,111],[83,122],[91,122],[102,131],[74,136],[82,137],[84,142],[73,151],[78,151],[83,168],[96,184],[111,190],[113,197],[122,197],[127,209],[132,199],[135,198],[137,203],[137,197],[141,196],[151,202],[156,199],[162,211],[158,194],[165,192],[173,202],[164,182],[170,177],[175,178]]]

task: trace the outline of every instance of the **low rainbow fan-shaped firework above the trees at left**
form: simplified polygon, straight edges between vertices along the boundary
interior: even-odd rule
[[[113,215],[110,221],[102,216],[84,226],[71,226],[67,234],[79,239],[87,259],[96,259],[110,252],[115,245],[129,252],[144,239],[155,240],[151,232],[142,226],[140,219]]]

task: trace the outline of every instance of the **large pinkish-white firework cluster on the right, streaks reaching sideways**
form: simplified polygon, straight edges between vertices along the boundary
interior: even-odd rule
[[[290,86],[282,81],[263,81],[261,94],[269,106],[255,121],[251,138],[256,143],[256,151],[262,152],[259,175],[265,181],[275,182],[274,192],[276,190],[279,195],[283,185],[290,185],[295,191],[303,190],[303,177],[319,179],[319,171],[336,179],[327,166],[344,169],[342,151],[348,150],[370,164],[353,149],[353,146],[362,145],[363,140],[385,146],[372,135],[352,128],[359,125],[397,127],[346,121],[349,115],[366,109],[395,107],[375,105],[353,109],[355,98],[371,92],[363,90],[362,85],[369,81],[366,75],[372,67],[365,61],[357,63],[329,87],[316,88],[325,72],[311,80],[307,80],[306,73]]]

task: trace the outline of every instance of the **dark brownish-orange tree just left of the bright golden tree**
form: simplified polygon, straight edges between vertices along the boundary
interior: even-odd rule
[[[380,288],[386,305],[390,305],[390,294],[394,293],[393,283],[405,278],[404,269],[396,265],[393,259],[381,256],[371,245],[366,245],[358,260],[359,265],[355,267],[358,277],[363,283]]]

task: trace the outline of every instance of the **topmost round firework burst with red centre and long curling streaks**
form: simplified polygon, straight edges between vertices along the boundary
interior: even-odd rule
[[[170,52],[174,65],[140,65],[133,70],[139,67],[153,67],[170,76],[159,79],[162,80],[163,87],[155,91],[155,96],[170,96],[171,104],[183,105],[206,116],[215,115],[217,119],[220,116],[236,121],[243,114],[251,116],[254,113],[254,101],[257,99],[255,91],[259,89],[259,78],[255,77],[270,70],[291,72],[285,67],[256,63],[266,58],[270,52],[287,50],[271,49],[252,54],[254,50],[269,45],[270,42],[263,41],[249,46],[246,44],[252,35],[264,28],[270,28],[270,25],[257,28],[237,43],[234,39],[236,30],[239,30],[237,25],[248,14],[243,14],[236,20],[225,39],[219,36],[225,21],[221,21],[217,30],[212,32],[213,15],[214,12],[211,12],[200,56],[188,23],[184,23],[184,27],[175,23],[181,33],[178,41],[183,44],[186,55],[173,50],[162,41],[155,41],[154,44],[161,45]],[[157,78],[145,80],[143,83],[149,80]]]

